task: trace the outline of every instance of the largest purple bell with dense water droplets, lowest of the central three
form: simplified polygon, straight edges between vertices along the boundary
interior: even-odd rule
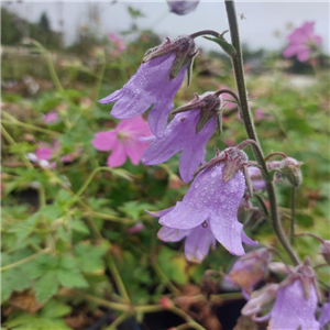
[[[243,164],[248,164],[246,154],[238,147],[229,147],[202,165],[183,201],[164,216],[154,212],[161,217],[160,223],[188,230],[207,221],[215,238],[230,253],[243,255],[242,242],[256,244],[245,235],[238,221],[238,208],[245,191],[240,169]]]

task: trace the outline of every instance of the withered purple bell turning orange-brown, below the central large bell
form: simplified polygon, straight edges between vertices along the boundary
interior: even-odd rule
[[[271,258],[272,254],[267,249],[253,250],[239,257],[226,277],[250,295],[253,286],[264,278]]]

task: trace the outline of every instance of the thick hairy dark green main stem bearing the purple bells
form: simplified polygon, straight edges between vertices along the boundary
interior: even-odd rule
[[[245,79],[244,79],[244,70],[243,70],[243,58],[242,58],[242,51],[241,51],[241,43],[240,43],[240,33],[239,33],[239,26],[238,26],[238,15],[235,12],[234,0],[224,0],[224,3],[226,3],[227,16],[228,16],[230,35],[231,35],[231,43],[232,43],[232,46],[237,51],[235,55],[232,55],[231,59],[232,59],[232,66],[233,66],[234,76],[235,76],[238,94],[239,94],[239,98],[240,98],[240,108],[241,108],[241,112],[242,112],[242,120],[243,120],[245,131],[246,131],[249,139],[254,140],[258,145],[258,146],[252,145],[253,154],[254,154],[256,162],[258,163],[258,165],[262,168],[263,177],[266,182],[266,191],[267,191],[268,200],[270,200],[271,217],[273,220],[274,231],[276,233],[277,239],[279,240],[283,248],[285,249],[288,256],[290,257],[292,262],[295,265],[298,265],[299,258],[296,255],[296,253],[294,252],[288,240],[286,239],[285,233],[282,228],[282,224],[280,224],[273,178],[272,178],[271,173],[267,169],[266,162],[264,161],[264,155],[263,155],[262,148],[260,147],[257,135],[256,135],[256,132],[254,129],[252,114],[249,109],[248,95],[246,95],[246,88],[245,88]]]

